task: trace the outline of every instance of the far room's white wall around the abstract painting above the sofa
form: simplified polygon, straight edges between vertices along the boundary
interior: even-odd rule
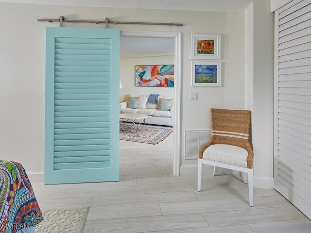
[[[145,56],[120,59],[120,100],[127,101],[129,94],[149,95],[159,94],[163,96],[174,95],[173,87],[135,86],[135,66],[139,65],[173,65],[174,56]]]

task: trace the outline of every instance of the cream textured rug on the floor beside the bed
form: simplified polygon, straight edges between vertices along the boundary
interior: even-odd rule
[[[36,233],[82,233],[88,207],[69,207],[42,210],[44,220]]]

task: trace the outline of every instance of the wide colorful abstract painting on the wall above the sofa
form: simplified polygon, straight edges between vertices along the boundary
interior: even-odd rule
[[[174,87],[174,65],[135,67],[136,86]]]

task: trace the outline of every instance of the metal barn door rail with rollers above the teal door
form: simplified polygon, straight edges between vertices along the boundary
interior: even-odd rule
[[[164,25],[164,26],[183,26],[183,23],[147,23],[147,22],[119,22],[119,21],[110,21],[109,18],[105,18],[105,20],[76,20],[76,19],[65,19],[64,16],[60,16],[59,18],[37,18],[38,21],[48,21],[48,22],[59,22],[59,26],[63,27],[63,22],[75,22],[75,23],[104,23],[106,28],[108,28],[109,23],[113,24],[144,24],[144,25]]]

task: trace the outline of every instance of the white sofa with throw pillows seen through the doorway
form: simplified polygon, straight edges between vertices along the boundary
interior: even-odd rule
[[[136,98],[138,106],[131,106],[131,100]],[[159,96],[157,104],[148,103],[149,95],[130,95],[129,101],[120,103],[120,113],[142,113],[148,115],[145,119],[146,124],[165,125],[173,127],[173,98],[167,96]],[[172,106],[169,110],[161,110],[162,101],[170,100]],[[164,102],[162,102],[164,103]],[[137,122],[139,122],[138,120]]]

